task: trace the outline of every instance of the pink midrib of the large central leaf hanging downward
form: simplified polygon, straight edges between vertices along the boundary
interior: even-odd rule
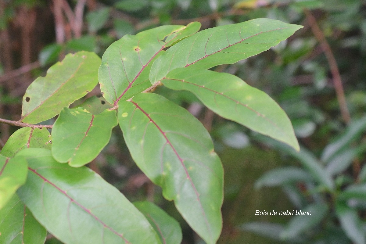
[[[202,215],[203,217],[205,218],[205,221],[206,221],[206,225],[207,225],[207,229],[210,231],[210,228],[209,228],[209,223],[208,223],[208,220],[206,218],[206,214],[205,214],[205,211],[203,210],[203,206],[202,206],[202,203],[201,203],[201,200],[199,199],[199,193],[192,181],[192,178],[191,176],[189,175],[188,173],[188,170],[186,168],[186,165],[184,165],[183,163],[183,159],[179,156],[178,152],[175,150],[174,146],[172,145],[172,143],[170,142],[170,140],[167,138],[167,136],[165,135],[165,132],[160,128],[160,126],[158,124],[156,124],[156,122],[150,117],[150,115],[148,113],[146,113],[145,110],[143,110],[137,103],[135,103],[134,101],[131,101],[132,104],[134,104],[136,106],[136,108],[138,108],[144,115],[147,116],[147,118],[149,118],[149,120],[156,126],[156,128],[160,131],[160,133],[164,136],[165,140],[167,141],[167,143],[169,144],[169,146],[172,148],[174,154],[177,156],[177,158],[179,159],[180,161],[180,164],[182,165],[183,169],[184,169],[184,172],[186,173],[186,176],[187,176],[187,179],[190,181],[191,185],[192,185],[192,188],[197,196],[197,201],[199,203],[199,206],[201,207],[201,211],[202,211]]]

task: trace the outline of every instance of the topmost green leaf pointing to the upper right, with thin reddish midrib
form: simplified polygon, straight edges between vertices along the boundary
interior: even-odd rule
[[[206,69],[236,63],[276,46],[300,28],[263,18],[202,30],[159,57],[153,64],[150,82],[156,83],[175,68],[193,65]]]

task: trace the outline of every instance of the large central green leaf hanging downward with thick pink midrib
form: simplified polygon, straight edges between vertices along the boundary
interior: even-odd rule
[[[140,93],[119,102],[124,140],[139,168],[174,200],[208,244],[221,232],[223,167],[203,125],[160,95]]]

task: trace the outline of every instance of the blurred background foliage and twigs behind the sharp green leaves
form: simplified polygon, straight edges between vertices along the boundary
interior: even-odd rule
[[[192,94],[156,91],[202,121],[221,157],[218,243],[365,244],[364,0],[1,0],[0,117],[19,120],[27,86],[67,53],[102,56],[123,35],[160,25],[199,21],[206,29],[262,17],[304,28],[267,52],[214,70],[274,98],[294,125],[300,153],[214,115]],[[98,87],[87,97],[93,95],[101,95]],[[0,124],[2,146],[15,129]],[[154,201],[178,219],[183,244],[203,243],[134,164],[120,130],[89,167],[131,201]],[[312,214],[270,216],[272,210]],[[46,243],[59,241],[49,235]]]

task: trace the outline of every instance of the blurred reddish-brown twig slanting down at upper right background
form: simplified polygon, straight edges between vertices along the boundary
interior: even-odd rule
[[[315,37],[320,42],[322,49],[324,51],[325,57],[328,60],[330,72],[332,73],[332,76],[333,76],[333,83],[334,83],[334,87],[335,87],[336,94],[337,94],[337,100],[338,100],[341,116],[343,118],[344,123],[348,124],[351,121],[351,116],[350,116],[350,112],[348,112],[346,96],[344,95],[342,79],[339,74],[339,69],[338,69],[336,59],[333,55],[332,49],[330,49],[330,46],[325,39],[325,35],[324,35],[323,31],[318,26],[314,15],[311,14],[311,12],[307,9],[304,9],[304,13],[305,13],[307,21],[309,22],[311,31],[314,33]]]

